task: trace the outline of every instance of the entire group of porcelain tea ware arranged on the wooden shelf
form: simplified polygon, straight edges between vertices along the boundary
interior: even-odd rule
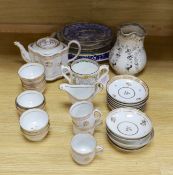
[[[145,30],[139,24],[120,26],[109,63],[121,75],[110,80],[109,66],[97,62],[103,60],[82,56],[84,51],[94,54],[96,50],[112,46],[112,31],[105,25],[67,25],[62,32],[29,44],[29,52],[19,42],[14,42],[27,62],[18,70],[24,91],[15,100],[24,137],[41,141],[48,135],[50,122],[43,95],[46,81],[64,77],[67,83],[60,84],[59,90],[66,92],[72,103],[69,116],[74,136],[70,146],[77,164],[89,164],[103,151],[94,138],[103,116],[92,100],[104,88],[107,106],[111,109],[106,117],[108,141],[121,151],[130,152],[148,145],[154,137],[154,129],[150,118],[142,111],[149,98],[149,88],[143,80],[133,76],[146,64],[144,36]],[[72,59],[70,52],[75,53]]]

